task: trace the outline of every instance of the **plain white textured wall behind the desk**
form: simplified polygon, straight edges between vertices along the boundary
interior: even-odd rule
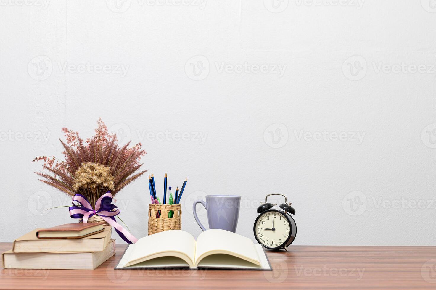
[[[165,171],[188,176],[195,236],[197,196],[241,194],[237,232],[253,237],[279,192],[295,244],[435,245],[435,4],[0,0],[0,241],[72,222],[42,211],[69,200],[31,160],[102,117],[143,143],[159,191]],[[117,199],[146,235],[146,178]]]

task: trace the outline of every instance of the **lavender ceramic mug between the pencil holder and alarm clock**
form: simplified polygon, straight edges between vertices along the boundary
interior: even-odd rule
[[[209,229],[225,229],[236,232],[238,225],[239,208],[241,207],[240,195],[206,195],[206,202],[195,201],[192,205],[192,212],[200,228],[206,229],[197,216],[195,205],[201,203],[208,214]]]

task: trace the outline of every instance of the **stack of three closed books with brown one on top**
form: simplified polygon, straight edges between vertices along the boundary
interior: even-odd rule
[[[4,268],[93,270],[115,254],[112,228],[76,223],[35,229],[3,252]]]

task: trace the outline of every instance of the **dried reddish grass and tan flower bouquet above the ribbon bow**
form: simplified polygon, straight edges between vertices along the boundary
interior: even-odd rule
[[[109,134],[106,124],[99,119],[95,136],[85,143],[78,132],[63,128],[66,143],[61,140],[65,160],[50,156],[40,156],[33,161],[44,161],[44,172],[35,172],[45,184],[73,196],[82,194],[90,202],[95,202],[107,191],[114,196],[127,184],[146,171],[136,173],[143,164],[139,161],[146,152],[138,143],[129,148],[127,143],[119,147],[116,134]],[[55,162],[56,161],[56,162]]]

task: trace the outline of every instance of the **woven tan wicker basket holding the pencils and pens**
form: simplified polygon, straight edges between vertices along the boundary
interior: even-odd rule
[[[160,217],[156,214],[160,211]],[[168,212],[173,211],[174,215],[168,218]],[[182,229],[182,208],[177,205],[148,205],[148,235],[153,235],[157,232],[168,231],[170,229]]]

